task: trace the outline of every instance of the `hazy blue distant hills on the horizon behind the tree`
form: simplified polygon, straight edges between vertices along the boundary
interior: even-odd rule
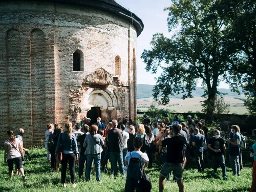
[[[153,97],[153,87],[151,84],[137,84],[137,99],[141,98],[150,98]],[[227,93],[228,96],[239,97],[240,95],[234,92],[231,92],[229,89],[218,89],[221,93]],[[240,89],[241,94],[242,88]],[[196,91],[192,92],[193,97],[201,97],[204,94],[204,90],[200,87],[196,88]],[[179,94],[177,96],[171,96],[170,98],[181,98],[183,94]]]

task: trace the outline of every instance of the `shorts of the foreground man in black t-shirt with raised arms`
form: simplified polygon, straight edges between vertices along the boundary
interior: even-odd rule
[[[167,163],[165,162],[163,164],[163,167],[161,169],[160,174],[164,177],[166,177],[170,172],[174,172],[174,175],[177,180],[182,180],[183,179],[183,163]]]

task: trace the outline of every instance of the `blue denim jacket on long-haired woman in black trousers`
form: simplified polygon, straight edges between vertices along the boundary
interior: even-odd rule
[[[75,154],[79,153],[75,134],[72,134],[72,137],[70,139],[67,131],[59,135],[56,152],[59,147],[60,138],[62,138],[63,151],[74,151]]]

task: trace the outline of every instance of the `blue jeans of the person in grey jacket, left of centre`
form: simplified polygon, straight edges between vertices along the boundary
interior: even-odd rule
[[[94,160],[94,165],[96,169],[96,180],[100,181],[100,158],[101,158],[101,153],[98,154],[87,154],[86,156],[86,180],[89,181],[90,175],[91,175],[91,168],[92,168],[92,163]]]

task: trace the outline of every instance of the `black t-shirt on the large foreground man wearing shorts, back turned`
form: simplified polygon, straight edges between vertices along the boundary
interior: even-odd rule
[[[166,162],[183,163],[183,146],[186,144],[184,137],[176,136],[162,141],[162,146],[167,145]]]

